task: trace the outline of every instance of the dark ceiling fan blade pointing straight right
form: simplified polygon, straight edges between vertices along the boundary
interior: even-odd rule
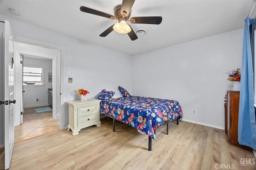
[[[148,24],[160,24],[162,17],[132,17],[130,18],[131,23],[148,23]]]

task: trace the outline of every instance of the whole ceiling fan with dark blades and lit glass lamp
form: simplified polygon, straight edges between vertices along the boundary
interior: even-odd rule
[[[161,16],[152,17],[132,17],[130,18],[130,12],[135,0],[123,0],[122,5],[116,6],[114,9],[114,15],[110,15],[101,11],[94,10],[85,6],[80,7],[80,11],[89,14],[94,14],[97,16],[106,17],[112,20],[118,20],[118,23],[111,25],[100,37],[106,37],[109,33],[115,30],[118,33],[127,33],[132,41],[138,39],[136,33],[133,31],[132,27],[126,23],[129,21],[131,23],[147,23],[147,24],[160,24],[162,22]],[[130,19],[129,19],[130,18]]]

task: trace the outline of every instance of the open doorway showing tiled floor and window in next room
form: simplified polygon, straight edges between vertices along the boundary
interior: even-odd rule
[[[14,142],[60,131],[59,119],[52,114],[52,59],[21,55],[23,115],[14,127]]]

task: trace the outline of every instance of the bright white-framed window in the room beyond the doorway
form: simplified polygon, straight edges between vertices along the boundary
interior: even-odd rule
[[[23,84],[44,85],[43,68],[24,66]]]

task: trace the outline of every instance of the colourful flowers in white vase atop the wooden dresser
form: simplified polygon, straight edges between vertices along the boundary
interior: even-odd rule
[[[240,91],[240,80],[241,80],[241,70],[236,68],[236,70],[228,71],[228,81],[231,82],[231,90]]]

